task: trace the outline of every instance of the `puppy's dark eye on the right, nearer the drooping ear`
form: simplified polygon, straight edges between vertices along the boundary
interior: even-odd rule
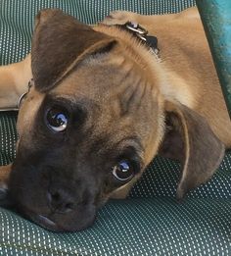
[[[113,175],[120,181],[126,181],[134,176],[134,168],[127,160],[121,160],[113,168]]]

